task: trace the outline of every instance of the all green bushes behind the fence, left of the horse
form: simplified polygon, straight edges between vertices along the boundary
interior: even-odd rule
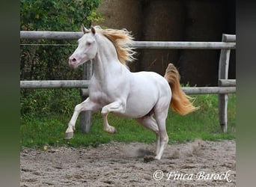
[[[100,0],[21,0],[20,30],[80,31],[82,24],[89,26],[92,21],[101,19],[96,13],[99,4]],[[82,67],[74,71],[67,64],[76,49],[76,45],[67,44],[76,44],[76,41],[21,40],[21,44],[21,80],[82,79]],[[80,102],[78,89],[21,89],[20,95],[22,118],[52,113],[68,115]]]

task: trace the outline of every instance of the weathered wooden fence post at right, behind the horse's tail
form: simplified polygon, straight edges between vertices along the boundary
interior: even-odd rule
[[[228,34],[222,34],[222,42],[231,42]],[[231,49],[222,49],[219,56],[219,80],[228,79],[228,65]],[[219,82],[219,86],[222,86]],[[219,94],[219,125],[222,132],[228,131],[228,94]]]

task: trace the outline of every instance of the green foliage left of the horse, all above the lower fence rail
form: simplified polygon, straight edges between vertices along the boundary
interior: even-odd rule
[[[20,30],[22,31],[80,31],[101,19],[96,9],[100,0],[21,0]],[[40,45],[37,45],[40,43]],[[70,71],[67,59],[76,41],[21,40],[20,79],[82,79],[82,68]],[[25,44],[25,45],[24,45]]]

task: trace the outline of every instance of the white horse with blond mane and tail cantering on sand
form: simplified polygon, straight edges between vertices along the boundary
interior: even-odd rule
[[[99,26],[88,30],[82,26],[82,31],[84,35],[70,56],[69,65],[76,68],[93,59],[94,74],[89,86],[89,97],[76,105],[65,138],[73,138],[81,111],[101,109],[103,129],[106,132],[116,132],[115,127],[108,123],[109,112],[134,118],[155,132],[155,159],[161,159],[168,144],[165,120],[170,102],[171,108],[179,114],[188,114],[196,109],[189,101],[189,96],[180,89],[177,69],[169,64],[165,77],[153,72],[131,73],[126,62],[134,59],[132,55],[135,52],[131,47],[132,36],[127,30],[102,29]]]

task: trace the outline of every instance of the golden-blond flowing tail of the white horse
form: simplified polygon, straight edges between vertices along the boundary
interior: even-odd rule
[[[174,111],[178,114],[186,115],[198,109],[198,107],[193,106],[192,102],[189,101],[192,98],[187,96],[180,88],[180,74],[177,68],[174,67],[174,64],[168,64],[165,71],[165,79],[171,86],[171,108]]]

